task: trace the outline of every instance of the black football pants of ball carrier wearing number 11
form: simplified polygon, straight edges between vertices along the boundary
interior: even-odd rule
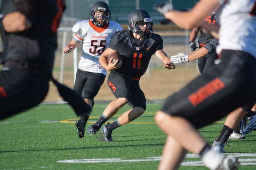
[[[146,110],[146,98],[140,89],[139,80],[111,71],[107,83],[116,98],[126,98],[132,108],[141,107]]]

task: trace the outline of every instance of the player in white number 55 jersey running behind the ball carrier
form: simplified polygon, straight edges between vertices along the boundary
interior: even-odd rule
[[[63,53],[72,52],[82,42],[82,55],[73,89],[81,94],[91,108],[93,99],[107,74],[99,63],[99,56],[108,48],[112,35],[123,30],[118,23],[110,21],[110,14],[108,4],[102,1],[95,2],[91,6],[90,20],[79,21],[73,26],[73,40],[63,49]],[[84,137],[85,125],[90,114],[91,111],[82,114],[81,119],[76,122],[79,138]]]

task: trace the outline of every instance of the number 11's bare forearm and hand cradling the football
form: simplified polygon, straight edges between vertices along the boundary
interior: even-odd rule
[[[108,62],[108,56],[117,52],[111,48],[107,48],[99,57],[100,65],[105,68],[107,71],[116,70],[122,65],[122,61],[118,62],[118,59],[115,63],[112,63],[113,58],[111,58]]]

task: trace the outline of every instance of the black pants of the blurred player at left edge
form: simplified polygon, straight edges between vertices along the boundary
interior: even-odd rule
[[[17,67],[0,71],[0,119],[42,102],[49,87],[49,73],[30,73]]]

